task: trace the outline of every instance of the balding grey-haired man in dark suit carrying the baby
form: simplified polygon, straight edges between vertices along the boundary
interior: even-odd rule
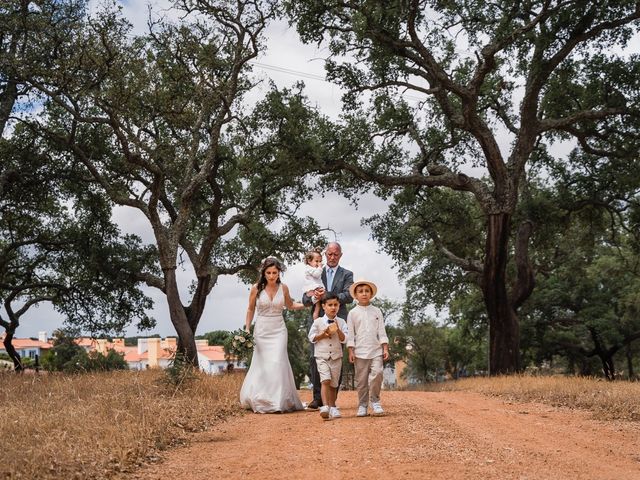
[[[340,302],[338,317],[346,321],[347,304],[353,302],[353,298],[349,294],[349,287],[353,284],[353,272],[338,265],[340,263],[340,257],[342,257],[342,247],[340,247],[339,243],[329,243],[325,250],[325,257],[327,264],[322,271],[322,283],[327,293],[331,292],[338,296],[338,301]],[[305,292],[302,296],[302,303],[308,306],[313,305],[314,296],[316,297],[316,301],[320,301],[322,298],[322,294],[314,293],[313,291]],[[324,315],[322,310],[320,310],[320,315]],[[313,309],[310,310],[309,322],[307,329],[310,328],[311,323],[313,323]],[[313,354],[313,344],[311,345],[310,354],[309,380],[313,384],[313,400],[307,405],[307,408],[315,410],[322,406],[322,397],[320,396],[320,375],[318,374],[316,358]],[[340,385],[338,385],[338,389],[340,389]]]

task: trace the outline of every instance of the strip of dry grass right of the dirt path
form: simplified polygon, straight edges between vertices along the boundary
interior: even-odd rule
[[[478,392],[518,402],[580,408],[592,411],[599,419],[640,421],[640,382],[522,375],[466,378],[438,384],[435,388]]]

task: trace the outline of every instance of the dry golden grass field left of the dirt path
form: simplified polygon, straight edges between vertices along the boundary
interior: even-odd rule
[[[199,374],[184,390],[160,371],[0,372],[0,478],[113,478],[240,412],[240,375]]]

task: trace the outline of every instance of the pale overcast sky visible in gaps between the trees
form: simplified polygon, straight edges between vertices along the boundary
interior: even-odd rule
[[[147,4],[144,0],[122,1],[123,12],[134,24],[138,32],[144,31],[147,20]],[[169,2],[152,2],[156,12],[162,12]],[[169,17],[175,15],[164,10]],[[325,76],[323,59],[326,51],[314,46],[303,45],[295,30],[285,22],[271,24],[267,31],[267,49],[256,59],[254,73],[264,79],[264,85],[271,79],[278,87],[291,86],[300,80],[306,85],[305,93],[309,99],[321,109],[322,113],[336,118],[341,111],[340,89],[331,83],[321,80]],[[304,72],[296,74],[292,72]],[[255,99],[260,96],[260,89],[255,92]],[[307,202],[301,215],[312,215],[317,212],[316,220],[322,227],[336,232],[336,240],[343,248],[340,264],[352,270],[356,279],[366,278],[378,285],[380,296],[402,300],[404,287],[393,268],[393,262],[378,252],[378,246],[370,239],[370,230],[362,227],[360,221],[364,217],[382,212],[386,209],[383,201],[373,196],[362,199],[356,209],[349,201],[337,194],[329,194],[324,198],[314,198]],[[114,215],[123,233],[135,233],[146,241],[153,241],[148,222],[134,209],[120,207]],[[331,238],[330,240],[333,240]],[[180,272],[183,301],[190,299],[187,293],[191,272]],[[288,266],[283,281],[289,286],[296,299],[302,296],[303,265],[301,262]],[[249,285],[239,282],[235,277],[221,277],[209,296],[204,315],[198,326],[197,334],[212,330],[233,330],[244,324],[249,295]],[[175,336],[175,330],[169,320],[167,303],[164,295],[155,289],[147,288],[145,292],[154,299],[155,307],[151,315],[157,320],[157,327],[151,332],[138,332],[135,327],[127,330],[128,336],[158,333],[164,336]],[[36,336],[39,331],[49,334],[62,325],[62,318],[48,305],[32,309],[23,319],[17,332],[18,337]]]

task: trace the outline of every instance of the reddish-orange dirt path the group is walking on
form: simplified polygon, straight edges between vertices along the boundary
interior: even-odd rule
[[[308,401],[309,392],[302,392]],[[640,425],[462,392],[383,392],[385,417],[247,414],[145,467],[166,479],[640,479]]]

